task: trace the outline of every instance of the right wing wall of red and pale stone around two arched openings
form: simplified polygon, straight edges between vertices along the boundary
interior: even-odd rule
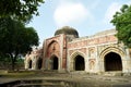
[[[106,72],[106,54],[110,52],[120,55],[122,72],[131,70],[129,69],[129,61],[131,61],[131,59],[129,54],[127,54],[129,51],[122,44],[118,45],[118,39],[115,37],[115,34],[116,30],[111,29],[94,36],[73,39],[69,42],[68,71],[75,71],[75,58],[82,55],[85,62],[84,71],[91,73]]]

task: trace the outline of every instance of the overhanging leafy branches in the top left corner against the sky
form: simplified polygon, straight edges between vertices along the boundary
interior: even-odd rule
[[[19,21],[28,21],[33,14],[38,15],[38,7],[44,0],[0,0],[0,18],[13,17]]]

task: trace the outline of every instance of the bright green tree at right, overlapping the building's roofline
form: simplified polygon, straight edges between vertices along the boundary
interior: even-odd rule
[[[122,5],[120,12],[116,12],[111,23],[116,26],[117,38],[127,47],[131,47],[131,5]]]

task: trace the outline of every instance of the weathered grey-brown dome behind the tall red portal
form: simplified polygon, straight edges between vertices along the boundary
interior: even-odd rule
[[[74,35],[75,37],[79,37],[79,33],[70,26],[63,26],[62,28],[56,30],[55,36],[59,34]]]

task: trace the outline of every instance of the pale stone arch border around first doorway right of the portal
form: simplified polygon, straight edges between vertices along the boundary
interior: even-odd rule
[[[85,54],[81,51],[74,51],[71,55],[70,55],[70,71],[74,71],[74,59],[76,55],[81,55],[84,59],[85,62]],[[86,64],[86,63],[85,63]],[[85,71],[85,70],[84,70]]]

